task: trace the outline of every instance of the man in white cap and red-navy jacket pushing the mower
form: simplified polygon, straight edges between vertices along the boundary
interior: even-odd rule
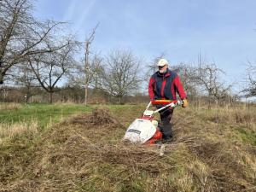
[[[189,105],[187,101],[187,96],[183,90],[183,84],[177,73],[172,72],[168,68],[168,61],[165,59],[160,59],[157,66],[159,70],[154,73],[148,84],[148,95],[150,101],[158,99],[166,100],[177,100],[176,93],[183,100],[183,108]],[[162,106],[156,106],[156,108],[161,108]],[[170,123],[172,118],[173,108],[168,108],[160,111],[160,131],[163,134],[163,139],[167,142],[172,140],[172,125]]]

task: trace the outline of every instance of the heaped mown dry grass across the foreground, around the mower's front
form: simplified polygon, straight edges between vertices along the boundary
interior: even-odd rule
[[[255,159],[246,153],[253,148],[201,139],[200,129],[179,126],[160,157],[158,146],[121,143],[126,128],[107,109],[75,116],[46,132],[16,179],[2,178],[0,191],[255,189]]]

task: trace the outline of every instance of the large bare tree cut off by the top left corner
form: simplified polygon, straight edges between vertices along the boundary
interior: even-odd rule
[[[65,44],[49,44],[60,22],[35,20],[32,0],[0,1],[0,84],[9,69],[33,55],[61,49]]]

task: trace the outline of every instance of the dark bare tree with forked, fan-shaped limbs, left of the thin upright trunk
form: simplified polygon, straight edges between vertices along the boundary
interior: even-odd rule
[[[49,92],[49,102],[53,101],[55,86],[69,68],[72,67],[74,45],[58,49],[52,53],[38,55],[29,61],[33,73],[44,90]]]

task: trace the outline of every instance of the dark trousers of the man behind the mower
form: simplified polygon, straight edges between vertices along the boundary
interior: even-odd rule
[[[172,125],[170,121],[172,119],[173,108],[164,109],[159,113],[160,113],[159,128],[163,134],[163,139],[169,139],[172,137]]]

